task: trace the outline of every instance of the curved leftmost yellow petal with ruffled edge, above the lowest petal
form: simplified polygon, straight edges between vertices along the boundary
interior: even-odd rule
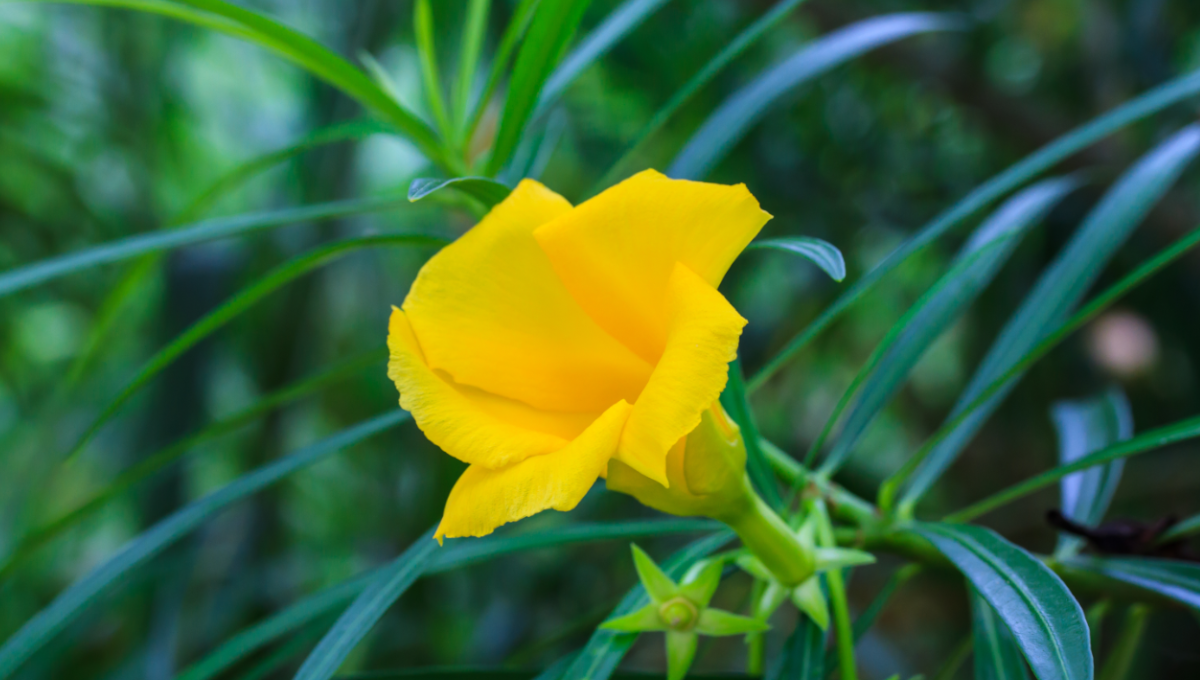
[[[388,348],[388,377],[400,390],[401,408],[430,441],[466,463],[500,468],[558,451],[596,417],[540,411],[440,378],[425,363],[408,319],[395,307]]]

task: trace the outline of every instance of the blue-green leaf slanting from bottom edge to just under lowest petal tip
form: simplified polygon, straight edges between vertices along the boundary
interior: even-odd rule
[[[300,666],[295,680],[328,680],[337,673],[354,648],[430,566],[438,542],[426,531],[390,565],[380,568],[366,589],[342,613],[317,649]]]

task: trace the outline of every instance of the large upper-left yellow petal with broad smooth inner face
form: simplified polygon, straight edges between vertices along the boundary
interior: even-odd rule
[[[546,410],[599,414],[637,398],[649,365],[583,312],[533,239],[570,210],[526,180],[425,264],[403,308],[432,368]]]

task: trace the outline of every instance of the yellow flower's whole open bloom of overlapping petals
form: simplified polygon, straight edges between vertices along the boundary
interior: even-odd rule
[[[769,218],[743,185],[653,170],[575,207],[524,180],[426,263],[388,374],[469,464],[438,540],[571,510],[610,461],[667,487],[746,323],[716,287]]]

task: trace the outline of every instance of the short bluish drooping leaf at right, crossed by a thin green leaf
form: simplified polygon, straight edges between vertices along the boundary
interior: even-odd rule
[[[1124,392],[1114,387],[1099,397],[1081,402],[1058,402],[1051,409],[1055,429],[1058,432],[1058,462],[1070,463],[1088,453],[1124,441],[1133,437],[1133,413]],[[1084,473],[1067,475],[1060,481],[1062,489],[1062,513],[1087,526],[1104,519],[1104,512],[1112,501],[1112,494],[1121,483],[1124,459],[1092,468]],[[1068,556],[1079,552],[1084,540],[1079,536],[1058,535],[1055,555]]]

